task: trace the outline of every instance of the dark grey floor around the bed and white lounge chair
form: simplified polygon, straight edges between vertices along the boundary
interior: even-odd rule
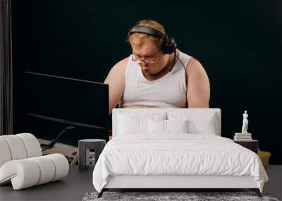
[[[282,200],[282,165],[265,166],[269,181],[264,185],[264,193]],[[10,185],[0,187],[0,200],[82,200],[87,192],[93,192],[92,171],[79,171],[78,166],[70,166],[70,172],[62,181],[54,181],[24,190],[13,190]]]

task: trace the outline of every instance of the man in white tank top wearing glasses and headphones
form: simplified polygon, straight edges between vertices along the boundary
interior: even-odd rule
[[[141,20],[130,29],[133,54],[116,63],[104,81],[110,113],[119,102],[126,108],[209,107],[207,73],[165,33],[154,20]]]

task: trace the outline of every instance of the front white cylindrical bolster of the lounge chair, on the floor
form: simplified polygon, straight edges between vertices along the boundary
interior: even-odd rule
[[[0,168],[0,184],[11,180],[13,189],[56,181],[68,175],[68,160],[62,154],[13,160]]]

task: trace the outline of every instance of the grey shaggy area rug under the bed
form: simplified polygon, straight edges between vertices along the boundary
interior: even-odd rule
[[[255,192],[109,192],[103,193],[102,197],[97,198],[98,193],[86,193],[82,201],[102,201],[102,200],[157,200],[157,201],[173,201],[173,200],[267,200],[278,201],[269,194],[262,193],[262,198],[257,197]]]

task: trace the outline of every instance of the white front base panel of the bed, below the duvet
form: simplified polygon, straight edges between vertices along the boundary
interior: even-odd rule
[[[259,188],[253,176],[109,176],[104,188]]]

